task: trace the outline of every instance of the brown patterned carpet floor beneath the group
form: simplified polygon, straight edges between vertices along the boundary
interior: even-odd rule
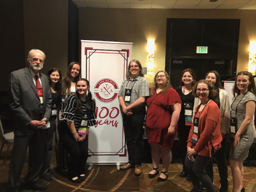
[[[0,145],[2,142],[0,141]],[[0,191],[5,191],[8,182],[10,156],[7,158],[7,162],[4,166],[3,159],[5,155],[7,145],[4,147],[4,152],[0,157]],[[8,152],[10,154],[10,151]],[[55,154],[53,153],[51,158],[51,167],[54,169]],[[130,170],[117,170],[117,166],[92,166],[88,167],[86,171],[86,180],[82,183],[73,183],[66,177],[66,172],[54,172],[53,180],[45,182],[48,185],[47,191],[55,192],[70,192],[70,191],[190,191],[192,189],[192,183],[186,181],[185,178],[180,178],[179,174],[182,171],[181,163],[172,163],[169,166],[169,178],[164,182],[157,182],[157,177],[154,179],[148,178],[148,173],[151,171],[152,164],[143,163],[142,174],[140,177],[134,175],[134,169]],[[159,165],[161,171],[162,165]],[[28,171],[28,161],[23,166],[20,181],[23,182]],[[233,180],[231,175],[231,169],[228,167],[228,180],[229,190],[232,191]],[[217,165],[214,164],[214,188],[216,191],[220,188],[219,173]],[[256,167],[244,167],[244,188],[245,191],[256,192]],[[30,192],[28,190],[23,190]]]

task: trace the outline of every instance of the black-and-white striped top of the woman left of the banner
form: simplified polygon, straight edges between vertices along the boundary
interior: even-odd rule
[[[88,122],[87,126],[93,126],[96,125],[96,116],[95,116],[95,100],[92,99],[92,107],[93,110],[88,110],[86,108],[86,102],[81,100],[83,114],[87,114],[88,116]],[[63,113],[61,113],[61,119],[62,121],[65,119],[68,119],[71,122],[75,123],[76,131],[78,132],[79,126],[82,122],[82,112],[79,112],[75,109],[76,107],[76,98],[74,94],[69,95],[69,97],[65,101],[65,109]]]

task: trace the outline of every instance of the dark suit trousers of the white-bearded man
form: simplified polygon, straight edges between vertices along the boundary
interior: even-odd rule
[[[9,182],[11,188],[20,186],[19,178],[26,158],[29,146],[28,174],[25,181],[35,183],[39,179],[39,173],[43,166],[45,155],[46,135],[44,130],[36,129],[33,135],[14,135],[14,146],[9,169]]]

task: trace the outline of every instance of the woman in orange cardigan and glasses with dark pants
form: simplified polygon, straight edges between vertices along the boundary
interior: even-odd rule
[[[205,173],[205,167],[221,147],[220,110],[211,100],[217,91],[204,79],[197,82],[193,94],[201,100],[201,104],[196,107],[189,132],[185,166],[194,186],[191,191],[201,191],[201,182],[207,191],[212,192],[215,190],[210,177]]]

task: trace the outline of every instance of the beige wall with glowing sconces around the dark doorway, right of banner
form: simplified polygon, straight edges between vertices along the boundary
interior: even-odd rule
[[[133,42],[133,59],[141,61],[143,67],[146,67],[147,39],[153,38],[156,72],[165,68],[167,18],[241,19],[237,71],[247,70],[249,42],[256,41],[255,10],[79,8],[79,37],[84,40]]]

